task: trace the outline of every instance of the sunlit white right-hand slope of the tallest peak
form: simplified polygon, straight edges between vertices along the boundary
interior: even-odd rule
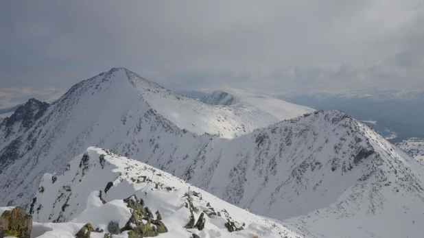
[[[176,95],[126,69],[119,69],[117,72],[126,73],[123,77],[128,77],[135,90],[156,112],[179,128],[196,134],[216,134],[233,139],[280,121],[269,113],[250,105],[204,104],[192,97]]]

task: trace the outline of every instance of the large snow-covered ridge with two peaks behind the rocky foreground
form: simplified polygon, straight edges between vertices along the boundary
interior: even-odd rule
[[[191,111],[193,117],[224,110],[229,121],[247,113],[232,107],[176,96],[125,69],[85,80],[30,129],[1,144],[0,188],[7,191],[0,193],[1,205],[30,204],[43,174],[61,174],[71,158],[95,145],[167,171],[252,213],[284,220],[306,237],[417,237],[424,232],[413,222],[424,213],[424,168],[343,112],[316,111],[225,139],[181,129],[165,110]],[[178,115],[191,119],[189,113]],[[196,121],[195,128],[200,124],[209,125]],[[5,133],[2,126],[0,136]],[[397,219],[401,222],[394,224]]]

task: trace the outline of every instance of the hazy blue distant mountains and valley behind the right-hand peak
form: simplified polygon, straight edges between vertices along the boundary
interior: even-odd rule
[[[338,109],[396,143],[410,137],[424,138],[424,92],[353,91],[295,93],[279,98],[316,109]],[[373,121],[373,123],[368,123]]]

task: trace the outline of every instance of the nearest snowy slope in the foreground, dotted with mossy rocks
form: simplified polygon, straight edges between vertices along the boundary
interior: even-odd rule
[[[113,185],[108,187],[108,183]],[[93,228],[104,230],[91,233],[91,237],[103,237],[110,232],[109,222],[117,222],[119,228],[124,228],[129,221],[132,209],[126,198],[143,201],[153,213],[152,226],[158,214],[161,215],[168,232],[159,237],[188,238],[193,233],[200,237],[301,237],[281,224],[239,209],[164,171],[95,147],[71,160],[62,176],[43,176],[32,203],[35,229],[32,236],[73,237],[89,222]],[[196,221],[204,213],[204,228],[185,228],[191,209]],[[243,229],[230,233],[226,228],[228,221]],[[127,234],[128,231],[123,231],[121,236]]]

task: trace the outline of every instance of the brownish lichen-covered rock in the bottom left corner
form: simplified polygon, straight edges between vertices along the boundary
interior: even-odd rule
[[[32,215],[27,215],[19,206],[0,216],[0,237],[30,238],[31,231]]]

